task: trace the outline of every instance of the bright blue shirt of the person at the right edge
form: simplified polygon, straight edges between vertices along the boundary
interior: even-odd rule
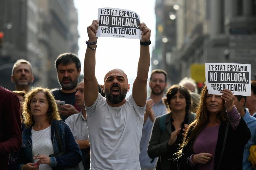
[[[244,111],[246,112],[243,119],[244,122],[247,124],[248,128],[250,129],[252,137],[249,139],[244,147],[243,169],[252,169],[252,164],[248,161],[248,158],[250,155],[250,147],[256,144],[256,118],[251,116],[248,110],[244,109]]]

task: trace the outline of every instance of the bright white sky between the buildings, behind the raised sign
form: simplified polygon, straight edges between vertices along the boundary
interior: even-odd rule
[[[98,8],[110,7],[121,8],[136,12],[140,16],[140,21],[144,22],[151,29],[150,54],[155,46],[155,0],[97,0],[84,1],[75,0],[75,6],[78,11],[78,31],[80,38],[78,40],[78,56],[84,68],[84,55],[88,40],[86,27],[92,23],[92,20],[98,19]],[[128,81],[132,85],[136,78],[138,60],[140,56],[140,40],[124,38],[99,37],[96,49],[96,78],[99,84],[103,84],[105,74],[114,68],[124,70]],[[83,72],[81,70],[81,72]]]

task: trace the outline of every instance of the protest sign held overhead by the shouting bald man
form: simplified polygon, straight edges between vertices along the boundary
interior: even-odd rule
[[[99,8],[96,37],[141,39],[140,16],[130,10]]]

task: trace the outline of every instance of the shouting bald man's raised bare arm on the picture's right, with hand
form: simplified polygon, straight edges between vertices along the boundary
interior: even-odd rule
[[[142,31],[140,42],[149,42],[151,30],[144,23],[140,23],[140,30]],[[147,100],[147,80],[149,65],[149,45],[140,45],[140,59],[138,63],[137,77],[132,87],[133,99],[140,107],[145,106]]]

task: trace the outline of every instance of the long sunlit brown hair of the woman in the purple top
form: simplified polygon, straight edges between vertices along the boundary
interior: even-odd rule
[[[206,96],[207,96],[207,87],[206,85],[201,91],[201,97],[199,101],[199,105],[196,109],[196,118],[194,122],[192,122],[188,126],[188,130],[185,133],[185,137],[183,140],[183,143],[180,146],[180,150],[175,154],[175,157],[179,158],[182,153],[183,147],[185,147],[192,139],[195,139],[199,133],[206,127],[207,123],[209,122],[209,113],[206,108]],[[222,108],[220,112],[217,114],[217,119],[220,121],[227,121],[228,120],[228,115],[226,113],[226,107],[225,107],[225,100],[222,100]],[[188,131],[191,131],[189,137],[188,137]]]

